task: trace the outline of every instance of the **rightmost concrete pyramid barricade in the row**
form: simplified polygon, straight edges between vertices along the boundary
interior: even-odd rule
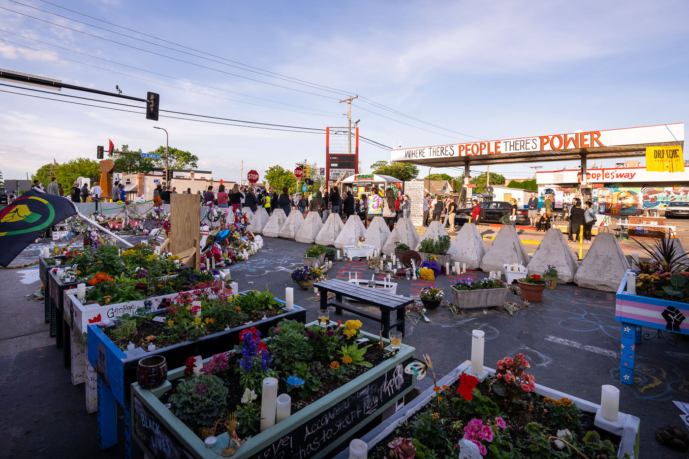
[[[579,266],[574,281],[579,287],[617,292],[629,261],[613,233],[599,233]]]

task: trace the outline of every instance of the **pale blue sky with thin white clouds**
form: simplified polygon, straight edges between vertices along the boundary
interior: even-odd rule
[[[233,68],[225,64],[237,64],[216,57],[209,59],[219,62],[122,37],[113,32],[182,49],[43,1],[18,1],[106,30],[9,0],[0,0],[0,7],[220,71],[127,48],[8,10],[0,10],[0,29],[6,31],[0,32],[0,68],[99,90],[114,91],[119,85],[123,94],[130,96],[158,92],[165,110],[306,128],[345,125],[342,114],[347,112],[346,106],[338,100],[344,99],[342,94],[359,94],[361,99],[353,103],[352,111],[353,120],[361,119],[360,134],[385,145],[391,145],[393,139],[402,139],[404,147],[473,139],[448,130],[494,140],[677,123],[686,121],[689,103],[689,4],[684,1],[51,0],[119,26],[340,92],[309,88],[248,72],[242,65]],[[3,86],[0,90],[30,92]],[[365,103],[364,97],[447,130],[376,108]],[[114,101],[105,96],[94,99]],[[291,169],[303,159],[325,165],[325,136],[320,134],[162,117],[158,122],[147,121],[143,113],[0,92],[0,170],[6,179],[21,179],[53,158],[58,163],[84,156],[95,159],[96,145],[107,147],[108,138],[117,147],[128,144],[144,152],[154,150],[165,143],[164,133],[154,130],[154,125],[167,129],[170,145],[197,154],[199,168],[212,170],[216,179],[239,179],[242,160],[244,174],[249,169],[263,174],[274,164]],[[373,162],[389,157],[382,148],[360,145],[364,172]],[[577,164],[542,165],[551,170]],[[613,166],[614,160],[603,165]],[[493,170],[510,178],[525,178],[533,174],[528,166],[496,166]]]

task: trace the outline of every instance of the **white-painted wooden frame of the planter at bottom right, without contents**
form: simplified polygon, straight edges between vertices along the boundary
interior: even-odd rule
[[[495,375],[495,369],[489,367],[483,367],[484,371],[493,376]],[[460,378],[461,374],[464,373],[471,374],[471,360],[466,360],[462,365],[453,369],[444,378],[438,381],[438,386],[451,386],[455,383],[457,379]],[[587,413],[595,413],[600,409],[600,405],[577,398],[575,396],[570,396],[564,394],[563,392],[556,391],[555,389],[550,389],[549,387],[544,387],[542,385],[536,385],[534,390],[536,394],[542,397],[550,397],[557,400],[562,397],[569,398],[573,403],[579,407],[582,411]],[[433,387],[426,389],[420,396],[412,400],[409,405],[400,409],[397,413],[393,414],[387,420],[384,420],[380,425],[374,427],[371,431],[366,433],[361,437],[361,440],[367,443],[369,451],[373,449],[379,442],[387,438],[395,429],[397,429],[403,422],[407,421],[413,414],[420,411],[425,407],[431,399],[435,396],[433,392]],[[605,421],[607,422],[607,421]],[[610,425],[599,425],[598,421],[595,422],[596,427],[600,429],[614,433],[617,436],[621,436],[619,442],[619,447],[617,449],[617,457],[624,457],[625,453],[629,453],[632,459],[639,457],[639,418],[636,416],[631,416],[630,414],[619,414],[619,422],[615,427]],[[369,453],[370,454],[370,453]],[[335,459],[347,459],[349,458],[349,447],[342,450],[337,456],[333,456]]]

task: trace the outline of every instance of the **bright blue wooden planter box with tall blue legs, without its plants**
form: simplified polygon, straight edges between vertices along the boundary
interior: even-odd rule
[[[285,304],[282,300],[278,303]],[[125,409],[125,447],[130,447],[130,387],[136,383],[136,366],[138,360],[153,355],[165,357],[168,368],[181,367],[189,356],[206,356],[206,360],[218,352],[232,349],[239,344],[239,334],[242,330],[256,327],[261,334],[267,335],[270,329],[276,327],[282,319],[298,320],[306,323],[306,309],[294,305],[291,311],[284,314],[259,320],[258,322],[240,325],[229,330],[223,330],[203,336],[196,341],[185,341],[175,345],[161,347],[154,351],[122,351],[97,325],[88,325],[88,362],[95,369],[98,377],[98,438],[102,449],[117,443],[116,405],[118,402]],[[177,377],[180,377],[181,374]],[[169,376],[168,376],[169,377]],[[202,442],[203,443],[203,442]]]

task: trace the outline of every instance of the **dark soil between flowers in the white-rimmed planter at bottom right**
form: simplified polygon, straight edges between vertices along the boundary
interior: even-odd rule
[[[416,440],[420,441],[424,446],[429,447],[429,449],[431,449],[432,451],[435,451],[435,455],[433,457],[455,457],[459,451],[459,449],[456,446],[464,437],[463,427],[467,424],[467,422],[469,422],[469,420],[471,420],[472,417],[482,418],[482,415],[479,413],[475,413],[473,416],[469,416],[469,418],[466,418],[466,416],[464,416],[464,418],[461,420],[463,422],[460,426],[460,429],[453,429],[453,427],[451,427],[453,422],[460,420],[457,416],[455,416],[455,411],[452,409],[452,400],[457,397],[461,398],[461,396],[457,394],[457,387],[459,387],[459,385],[459,380],[457,380],[449,390],[446,389],[440,393],[440,398],[442,398],[441,403],[443,405],[447,405],[450,413],[449,419],[446,418],[444,420],[444,424],[446,427],[444,428],[444,431],[441,432],[440,436],[442,436],[443,438],[442,445],[445,445],[446,442],[451,442],[451,444],[454,445],[454,448],[452,450],[447,449],[444,446],[433,447],[431,445],[427,445],[426,442],[424,442],[421,438],[415,436],[415,434],[418,433],[417,427],[415,426],[415,421],[419,420],[419,418],[423,416],[424,413],[433,414],[438,411],[438,402],[435,400],[435,398],[433,398],[431,399],[431,402],[429,402],[425,407],[422,407],[422,409],[420,409],[416,414],[409,417],[406,422],[404,422],[400,427],[395,429],[395,431],[393,431],[393,433],[387,436],[387,438],[380,440],[380,442],[378,442],[378,444],[375,447],[373,447],[372,451],[369,453],[369,457],[387,458],[387,454],[390,451],[390,448],[387,446],[388,443],[400,437],[415,438]],[[488,380],[486,380],[484,383],[480,383],[479,385],[477,385],[476,389],[478,389],[483,396],[495,395],[489,394]],[[526,431],[526,425],[528,425],[528,423],[537,422],[539,425],[547,427],[548,431],[546,432],[546,435],[552,436],[555,436],[557,434],[557,430],[564,429],[564,427],[557,425],[555,420],[551,417],[551,415],[549,415],[547,411],[544,412],[544,402],[542,401],[543,398],[541,396],[531,392],[528,394],[524,394],[524,396],[522,396],[522,399],[528,402],[529,405],[533,405],[533,410],[531,412],[526,412],[524,410],[515,410],[513,414],[507,414],[505,411],[501,410],[498,416],[502,416],[502,418],[507,424],[508,435],[503,435],[504,439],[507,442],[509,442],[509,444],[513,448],[513,451],[517,453],[515,457],[531,458],[537,455],[537,453],[529,449],[529,445],[532,444],[532,438],[529,435],[528,431]],[[471,402],[473,402],[474,400],[471,400]],[[551,407],[551,405],[545,406]],[[598,427],[595,427],[595,425],[593,425],[595,414],[586,413],[584,411],[579,411],[579,413],[581,414],[581,416],[579,417],[579,419],[581,420],[581,427],[577,429],[570,429],[574,436],[573,442],[570,443],[575,445],[575,447],[577,447],[579,451],[582,451],[589,458],[593,457],[593,451],[589,447],[586,447],[584,445],[584,436],[586,436],[586,433],[588,431],[593,430],[599,433],[601,441],[610,440],[610,442],[613,442],[613,445],[615,445],[615,451],[617,451],[617,448],[619,447],[620,437],[613,435],[608,431],[604,431],[602,429],[599,429]],[[502,434],[503,432],[504,429],[500,429],[500,433]],[[488,442],[486,440],[483,440],[482,443],[486,445],[486,447],[489,447],[489,445],[491,445],[491,442]],[[553,445],[553,442],[550,441],[549,444]],[[549,455],[547,451],[542,451],[542,454],[539,455],[539,457],[570,457],[568,456],[567,449],[559,451],[552,447],[550,451],[552,453],[552,456]],[[577,453],[575,453],[574,451],[571,451],[571,455],[571,457],[579,457]],[[608,458],[608,456],[604,454],[596,454],[595,457],[601,459]],[[617,456],[612,455],[609,457],[610,459],[612,459]]]

